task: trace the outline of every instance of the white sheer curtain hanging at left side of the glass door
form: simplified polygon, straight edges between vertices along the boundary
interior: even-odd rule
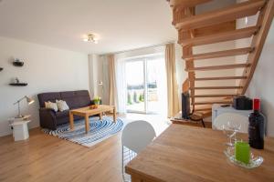
[[[126,61],[125,59],[115,60],[116,87],[117,87],[117,111],[126,113],[127,106],[127,83],[126,83]]]

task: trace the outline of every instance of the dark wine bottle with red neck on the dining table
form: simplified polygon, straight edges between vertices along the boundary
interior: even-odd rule
[[[265,118],[259,112],[260,100],[258,98],[253,99],[253,113],[248,116],[248,140],[250,147],[256,149],[264,148],[265,137]]]

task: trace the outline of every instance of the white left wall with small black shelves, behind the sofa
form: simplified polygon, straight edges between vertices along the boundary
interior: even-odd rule
[[[12,60],[19,58],[25,66],[16,67]],[[39,126],[37,94],[42,92],[89,89],[88,56],[44,45],[36,45],[0,37],[0,136],[11,133],[7,118],[16,116],[13,105],[23,96],[35,99],[33,105],[21,103],[23,114],[30,114],[31,128]],[[18,77],[28,86],[9,86],[11,79]]]

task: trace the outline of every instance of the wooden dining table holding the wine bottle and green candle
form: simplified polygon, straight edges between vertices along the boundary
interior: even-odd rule
[[[237,134],[248,139],[247,134]],[[247,169],[232,164],[224,154],[227,136],[222,131],[173,124],[142,150],[126,167],[132,182],[274,181],[274,138],[265,139],[263,150],[251,149],[264,158],[260,167]]]

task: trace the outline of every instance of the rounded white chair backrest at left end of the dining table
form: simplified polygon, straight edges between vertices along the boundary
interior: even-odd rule
[[[133,121],[124,127],[121,145],[139,153],[156,136],[153,126],[146,121]]]

